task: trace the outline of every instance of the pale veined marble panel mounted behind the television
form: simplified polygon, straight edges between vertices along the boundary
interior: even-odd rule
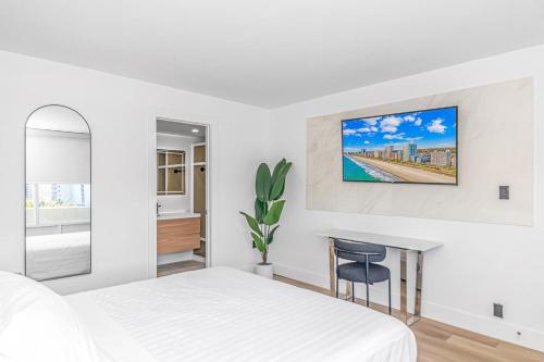
[[[343,182],[342,120],[453,104],[458,107],[457,186]],[[311,118],[307,208],[532,226],[533,109],[533,80],[523,78]],[[376,134],[371,142],[375,137],[385,136]],[[499,185],[510,187],[508,202],[499,200]]]

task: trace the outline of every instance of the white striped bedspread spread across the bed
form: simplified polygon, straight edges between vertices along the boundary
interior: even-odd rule
[[[123,344],[129,336],[159,362],[416,361],[413,334],[398,320],[227,267],[66,298],[92,321],[99,339],[119,346],[111,342],[112,328],[97,323],[104,315],[94,313],[108,315],[120,326],[115,334]]]

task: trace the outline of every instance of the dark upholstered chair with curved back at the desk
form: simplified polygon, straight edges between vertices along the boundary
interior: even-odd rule
[[[335,239],[334,254],[336,257],[336,298],[338,298],[338,279],[351,282],[351,301],[355,301],[355,283],[364,283],[367,285],[367,307],[369,307],[369,285],[387,280],[391,314],[391,271],[386,266],[376,264],[385,259],[385,247]],[[338,259],[351,262],[338,265]]]

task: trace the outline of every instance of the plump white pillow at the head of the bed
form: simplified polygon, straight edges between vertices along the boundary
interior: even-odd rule
[[[98,362],[94,337],[66,300],[0,271],[0,361]]]

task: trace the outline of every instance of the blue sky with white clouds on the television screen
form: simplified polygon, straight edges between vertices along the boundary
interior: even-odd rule
[[[418,149],[455,147],[456,126],[456,108],[343,121],[344,151],[401,149],[407,142]]]

